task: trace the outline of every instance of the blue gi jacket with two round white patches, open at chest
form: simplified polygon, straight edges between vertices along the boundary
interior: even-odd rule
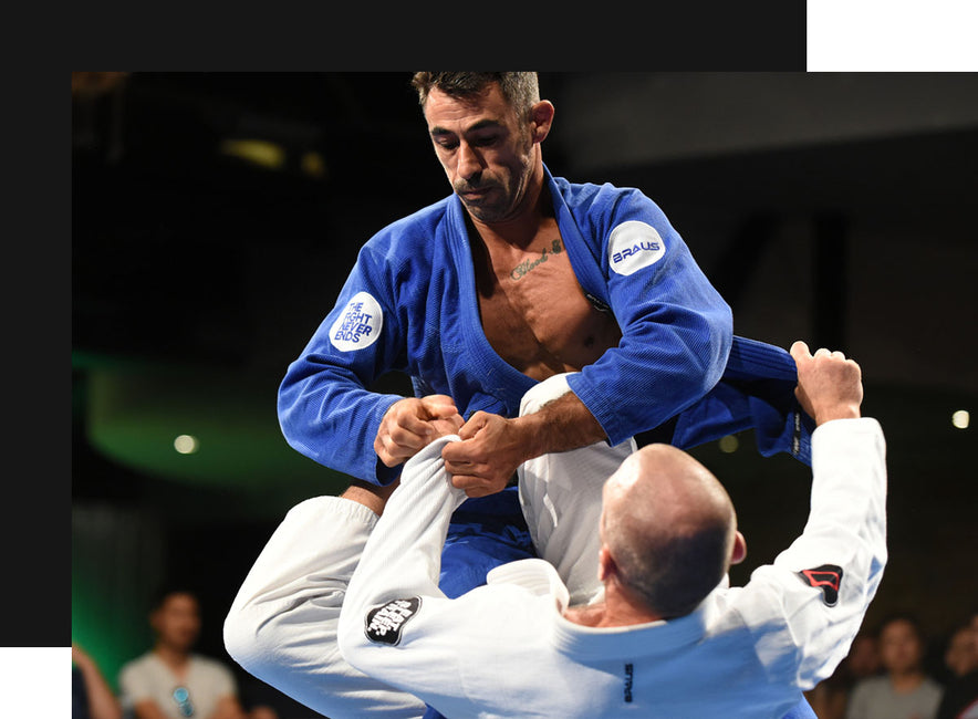
[[[623,333],[620,346],[571,382],[617,444],[659,426],[715,388],[735,343],[730,308],[642,192],[571,184],[549,170],[547,184],[582,288],[614,313]],[[773,372],[793,388],[788,353],[747,342],[751,353],[766,354],[770,367],[760,374],[749,365],[731,367],[739,373],[731,378],[749,382]],[[735,354],[735,363],[741,354]],[[479,409],[514,416],[534,384],[507,364],[482,332],[465,209],[454,195],[393,222],[361,249],[335,306],[281,383],[278,409],[287,441],[337,471],[392,481],[396,473],[385,475],[373,441],[384,413],[400,397],[367,390],[389,371],[410,376],[418,396],[451,396],[465,417]],[[732,417],[714,417],[722,420],[715,427],[720,434],[701,431],[714,410],[739,402],[739,389],[717,393],[687,415],[677,427],[682,446],[751,426],[741,403],[728,411],[739,425],[728,421]]]

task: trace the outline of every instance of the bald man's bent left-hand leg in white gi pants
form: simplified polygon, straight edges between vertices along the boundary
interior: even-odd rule
[[[425,705],[350,666],[336,632],[346,585],[377,515],[315,497],[289,510],[225,619],[228,654],[249,674],[331,719],[415,719]]]

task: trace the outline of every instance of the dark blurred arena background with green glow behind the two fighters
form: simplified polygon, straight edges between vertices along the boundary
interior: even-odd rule
[[[285,445],[275,392],[360,246],[449,191],[409,77],[72,74],[72,638],[113,687],[170,579],[201,596],[198,649],[226,658],[223,615],[270,533],[346,486]],[[556,106],[544,163],[657,201],[735,332],[860,362],[891,481],[866,623],[911,609],[936,647],[978,603],[978,76],[540,85]],[[750,433],[694,454],[738,507],[750,552],[731,579],[746,582],[801,532],[808,468],[761,458]]]

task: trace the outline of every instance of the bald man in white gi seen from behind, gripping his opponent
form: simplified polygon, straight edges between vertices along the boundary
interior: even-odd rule
[[[876,420],[860,417],[860,368],[800,342],[791,354],[799,400],[818,424],[811,514],[746,586],[728,585],[746,545],[706,468],[667,445],[633,452],[599,442],[520,477],[534,540],[553,564],[514,562],[445,597],[441,543],[466,498],[441,459],[458,440],[448,434],[408,461],[386,506],[373,488],[352,488],[294,508],[236,598],[228,650],[331,717],[417,717],[423,702],[452,719],[783,717],[845,657],[886,561],[885,446]],[[610,472],[587,484],[603,494],[593,542],[578,521],[602,502],[568,509],[560,478],[548,475],[568,459],[564,470],[591,476],[579,454],[589,449],[627,456],[607,481]]]

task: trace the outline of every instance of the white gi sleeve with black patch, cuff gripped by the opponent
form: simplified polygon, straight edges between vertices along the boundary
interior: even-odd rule
[[[481,646],[476,635],[501,621],[500,595],[526,596],[480,586],[449,600],[438,588],[448,523],[466,499],[441,459],[452,440],[459,438],[439,438],[405,463],[350,580],[339,632],[340,650],[352,666],[439,708],[465,694],[458,654]]]

